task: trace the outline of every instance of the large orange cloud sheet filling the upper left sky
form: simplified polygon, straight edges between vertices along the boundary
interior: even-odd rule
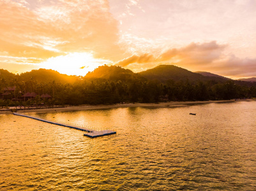
[[[0,52],[13,57],[46,60],[67,52],[94,52],[114,59],[115,52],[123,53],[107,1],[1,0],[0,8]]]

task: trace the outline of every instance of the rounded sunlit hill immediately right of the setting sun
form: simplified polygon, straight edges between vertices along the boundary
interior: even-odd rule
[[[146,79],[140,76],[139,74],[133,73],[130,69],[124,69],[119,66],[99,66],[94,69],[93,72],[87,73],[84,77],[85,80],[88,79],[105,79],[105,80],[113,80],[113,81],[129,81],[129,80],[142,80]]]

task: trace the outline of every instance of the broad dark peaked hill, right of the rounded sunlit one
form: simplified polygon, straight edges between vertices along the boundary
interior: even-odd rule
[[[191,82],[209,80],[215,80],[220,82],[226,81],[225,79],[219,78],[217,76],[203,76],[202,74],[193,73],[192,71],[188,71],[186,69],[173,65],[160,65],[154,67],[153,69],[142,71],[139,74],[149,80],[159,80],[161,82],[165,82],[167,80],[188,80]]]

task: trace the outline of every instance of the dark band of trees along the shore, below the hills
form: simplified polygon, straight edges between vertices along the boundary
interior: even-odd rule
[[[162,101],[206,101],[243,99],[256,97],[256,85],[240,85],[234,80],[218,81],[189,80],[145,80],[126,78],[110,80],[104,78],[77,77],[73,83],[60,81],[26,81],[0,79],[1,94],[4,88],[16,87],[9,95],[1,95],[0,106],[47,106],[115,103],[158,103]],[[33,99],[24,99],[26,92],[37,94]],[[50,99],[40,95],[49,94]]]

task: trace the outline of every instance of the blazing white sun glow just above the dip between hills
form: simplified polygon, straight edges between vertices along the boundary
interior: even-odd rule
[[[62,74],[85,76],[89,71],[104,64],[110,64],[109,60],[94,59],[92,53],[68,53],[59,57],[52,57],[41,66],[45,69],[53,69]]]

